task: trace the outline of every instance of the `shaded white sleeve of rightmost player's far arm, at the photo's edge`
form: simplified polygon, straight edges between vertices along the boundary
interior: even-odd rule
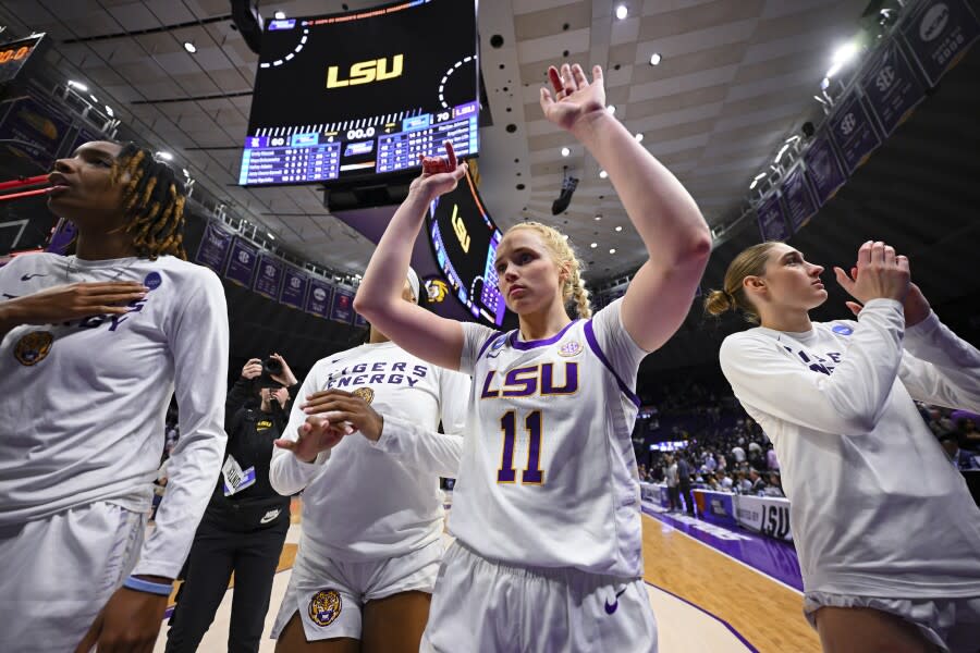
[[[908,393],[928,404],[980,411],[980,352],[935,313],[905,333],[898,375]]]

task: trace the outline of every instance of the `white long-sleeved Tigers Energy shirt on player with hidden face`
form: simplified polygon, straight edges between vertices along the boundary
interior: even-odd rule
[[[469,379],[428,364],[394,343],[366,344],[318,361],[293,402],[283,438],[296,440],[301,406],[322,390],[359,391],[384,419],[381,439],[344,438],[315,463],[287,449],[272,455],[280,494],[303,490],[306,555],[343,562],[417,551],[443,531],[439,477],[455,477],[463,449]],[[438,433],[440,418],[445,433]]]

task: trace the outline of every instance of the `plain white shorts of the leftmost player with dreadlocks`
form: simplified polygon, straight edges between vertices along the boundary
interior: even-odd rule
[[[0,651],[74,651],[136,565],[146,515],[99,502],[0,530]]]

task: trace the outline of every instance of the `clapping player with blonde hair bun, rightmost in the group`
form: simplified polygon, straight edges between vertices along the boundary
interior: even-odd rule
[[[976,410],[980,352],[892,247],[868,242],[852,275],[834,271],[857,322],[810,321],[823,268],[783,243],[739,254],[706,300],[760,323],[725,338],[721,366],[775,445],[807,619],[828,653],[976,653],[980,510],[912,399]]]

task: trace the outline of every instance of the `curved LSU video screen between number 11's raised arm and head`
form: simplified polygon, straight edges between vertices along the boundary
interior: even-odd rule
[[[429,207],[429,243],[452,294],[473,317],[500,326],[507,307],[497,287],[494,263],[503,235],[483,208],[469,171],[464,181]]]

